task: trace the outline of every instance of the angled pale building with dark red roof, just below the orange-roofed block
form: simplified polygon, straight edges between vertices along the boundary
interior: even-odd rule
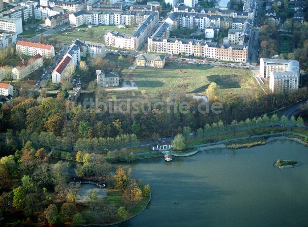
[[[38,53],[12,69],[13,79],[22,80],[23,78],[27,77],[30,73],[38,70],[42,66],[43,66],[43,57]]]

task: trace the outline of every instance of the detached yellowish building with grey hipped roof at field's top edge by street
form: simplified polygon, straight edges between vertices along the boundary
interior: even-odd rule
[[[139,54],[136,57],[136,66],[138,67],[164,68],[164,65],[165,55]]]

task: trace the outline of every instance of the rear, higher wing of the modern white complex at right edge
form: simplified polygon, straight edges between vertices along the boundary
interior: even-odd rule
[[[264,78],[268,78],[271,72],[293,71],[299,75],[299,62],[295,60],[285,59],[260,59],[260,74]]]

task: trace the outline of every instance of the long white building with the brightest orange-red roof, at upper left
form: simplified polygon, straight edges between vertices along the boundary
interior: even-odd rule
[[[40,54],[45,58],[55,57],[55,48],[52,45],[27,42],[18,40],[16,43],[16,51],[20,50],[23,54],[34,56]]]

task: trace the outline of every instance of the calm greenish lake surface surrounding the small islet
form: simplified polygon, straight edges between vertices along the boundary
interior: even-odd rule
[[[277,159],[302,165],[280,170],[273,167]],[[276,141],[124,164],[150,184],[152,200],[121,226],[307,226],[307,161],[307,147]]]

